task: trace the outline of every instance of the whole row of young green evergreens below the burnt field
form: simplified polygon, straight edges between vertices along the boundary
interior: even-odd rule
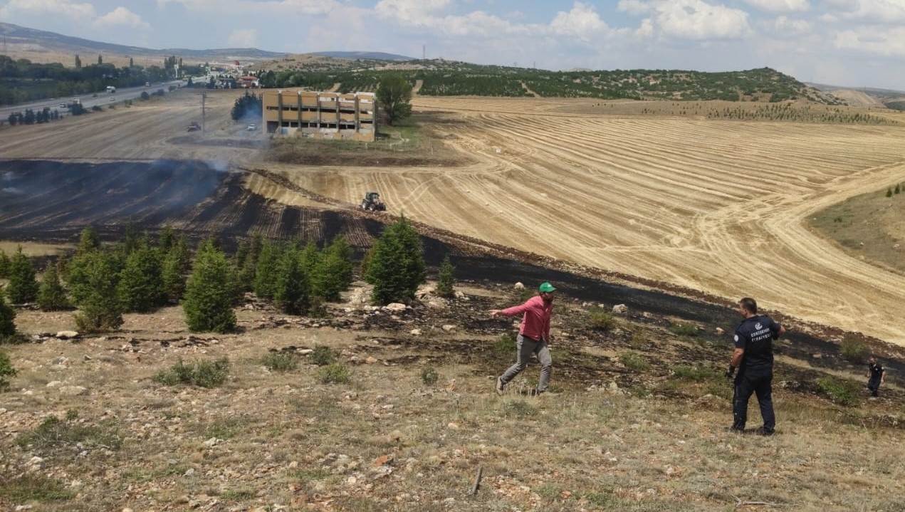
[[[193,332],[233,331],[233,311],[253,294],[291,315],[322,314],[355,277],[353,250],[339,236],[319,248],[314,242],[270,240],[260,234],[227,255],[215,236],[189,246],[186,236],[165,227],[156,240],[131,223],[117,242],[102,244],[91,226],[83,229],[71,255],[48,263],[41,280],[20,246],[0,251],[0,343],[15,339],[12,304],[36,303],[46,311],[77,308],[81,332],[114,331],[124,313],[148,313],[180,305]],[[424,249],[411,223],[401,217],[386,226],[358,268],[373,285],[376,305],[414,299],[426,280]],[[452,265],[443,261],[438,292],[452,295]]]

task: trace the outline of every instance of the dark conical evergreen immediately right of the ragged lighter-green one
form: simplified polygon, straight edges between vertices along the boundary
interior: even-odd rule
[[[119,303],[124,311],[147,313],[164,305],[167,292],[161,267],[157,251],[148,239],[137,242],[126,258],[117,284]]]

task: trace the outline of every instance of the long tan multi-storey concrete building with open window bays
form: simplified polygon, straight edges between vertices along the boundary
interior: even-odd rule
[[[268,133],[372,142],[376,99],[372,92],[264,90],[263,126]]]

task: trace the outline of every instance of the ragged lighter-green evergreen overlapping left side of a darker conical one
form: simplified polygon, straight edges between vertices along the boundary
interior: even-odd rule
[[[117,297],[118,269],[114,254],[88,252],[81,257],[81,300],[75,324],[88,333],[115,331],[122,326],[122,308]],[[73,260],[74,262],[75,260]],[[72,288],[73,299],[76,295]]]

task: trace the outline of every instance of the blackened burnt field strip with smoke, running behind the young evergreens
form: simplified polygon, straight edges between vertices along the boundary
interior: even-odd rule
[[[93,225],[105,240],[121,236],[126,223],[139,232],[156,233],[164,226],[186,233],[190,240],[217,234],[224,248],[255,233],[273,239],[300,239],[319,244],[343,235],[358,255],[370,247],[384,223],[395,217],[364,213],[354,205],[313,194],[298,185],[282,183],[280,176],[262,170],[225,170],[201,161],[61,163],[42,160],[0,161],[0,240],[70,242]],[[291,191],[324,204],[324,209],[287,206],[243,187],[247,172],[265,175]],[[571,299],[591,303],[625,304],[652,315],[651,322],[668,326],[673,320],[699,326],[723,327],[736,322],[732,301],[692,289],[641,280],[604,270],[579,267],[537,254],[517,251],[414,223],[422,233],[424,257],[437,267],[450,255],[459,280],[498,283],[508,287],[521,281],[531,286],[551,280]],[[794,326],[784,346],[786,356],[808,360],[820,367],[845,367],[837,357],[812,359],[814,354],[835,355],[844,336],[857,336],[900,369],[900,348],[878,340],[774,316]],[[673,320],[671,320],[672,318]],[[796,328],[795,328],[796,327]],[[719,343],[715,335],[702,333]],[[727,335],[726,340],[729,343]]]

